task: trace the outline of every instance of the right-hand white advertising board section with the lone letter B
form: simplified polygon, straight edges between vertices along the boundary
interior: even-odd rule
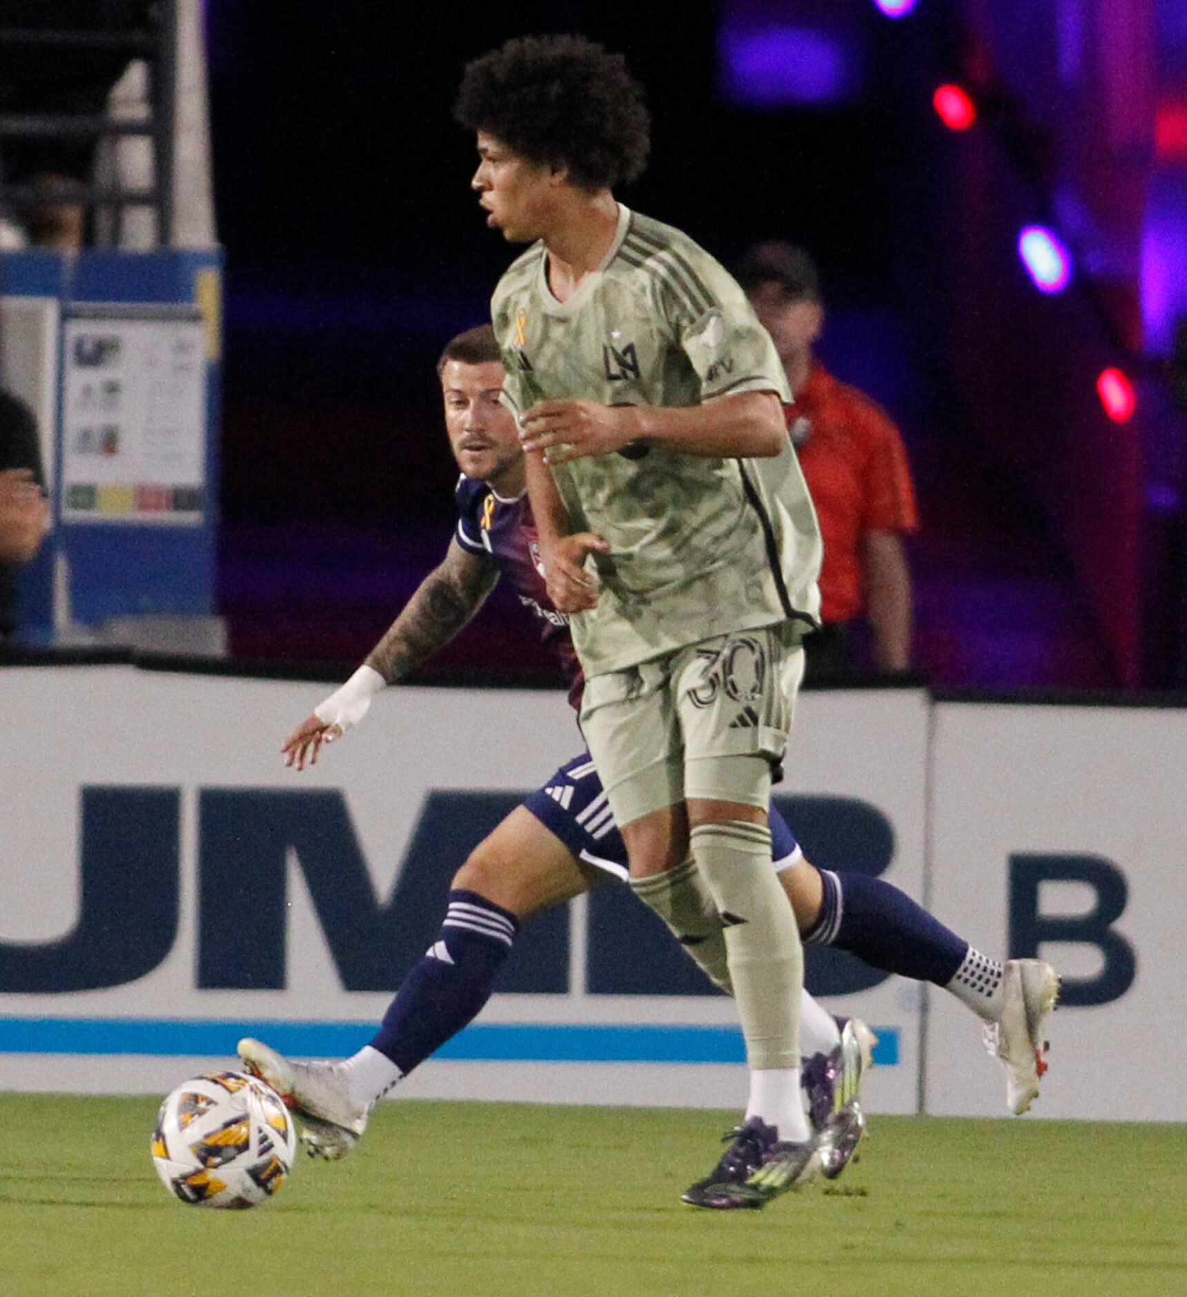
[[[1184,752],[1183,709],[936,708],[933,908],[1065,982],[1035,1115],[1187,1118]],[[1000,1115],[968,1014],[930,1000],[927,1110]]]

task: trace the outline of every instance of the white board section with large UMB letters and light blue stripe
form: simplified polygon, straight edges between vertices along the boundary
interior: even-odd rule
[[[156,1092],[225,1062],[244,1031],[297,1054],[352,1051],[432,940],[468,850],[579,751],[560,694],[394,689],[315,769],[285,769],[281,741],[324,693],[0,672],[21,735],[0,782],[0,1087]],[[880,826],[875,868],[916,896],[927,728],[921,693],[806,695],[779,789],[806,799],[822,843],[829,824]],[[527,925],[514,990],[402,1091],[737,1106],[732,1004],[666,974],[622,990],[603,947],[630,907],[610,885]],[[634,962],[645,983],[652,953]],[[825,1003],[882,1029],[871,1106],[912,1112],[914,988],[892,978]]]

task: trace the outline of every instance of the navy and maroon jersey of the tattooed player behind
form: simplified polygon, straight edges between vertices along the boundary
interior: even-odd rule
[[[569,702],[581,706],[584,678],[569,617],[557,612],[548,598],[535,521],[527,493],[514,499],[503,499],[485,481],[463,476],[454,492],[457,503],[457,543],[470,554],[485,554],[494,559],[499,575],[540,624],[542,638],[556,654],[565,680],[569,682]]]

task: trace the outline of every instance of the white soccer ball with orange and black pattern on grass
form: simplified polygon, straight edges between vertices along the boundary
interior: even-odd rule
[[[297,1154],[297,1127],[271,1086],[237,1071],[211,1071],[165,1100],[152,1149],[157,1174],[183,1202],[254,1208],[284,1184]]]

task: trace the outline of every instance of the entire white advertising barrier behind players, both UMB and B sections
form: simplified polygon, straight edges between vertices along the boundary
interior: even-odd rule
[[[578,747],[560,696],[394,689],[298,774],[324,689],[132,667],[6,668],[0,1087],[163,1091],[251,1032],[369,1039],[469,851]],[[1187,709],[809,693],[779,787],[807,855],[879,874],[989,955],[1065,979],[1039,1115],[1187,1118],[1173,1010]],[[1004,1112],[951,996],[809,952],[881,1035],[879,1112]],[[923,1040],[923,1047],[920,1041]],[[499,994],[402,1093],[736,1108],[733,1005],[628,891],[525,926]]]

